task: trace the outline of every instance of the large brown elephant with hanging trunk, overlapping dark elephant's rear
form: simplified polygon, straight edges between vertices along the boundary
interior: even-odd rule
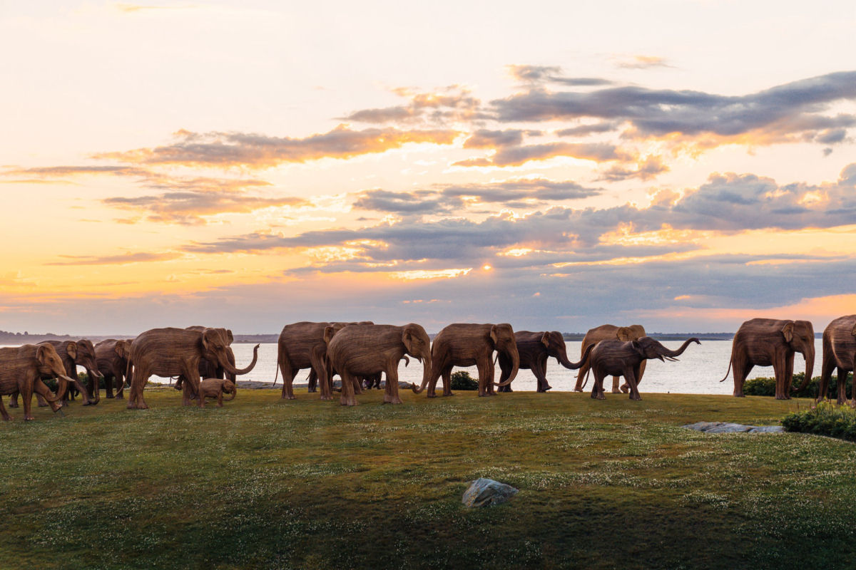
[[[443,396],[452,394],[452,368],[456,366],[479,368],[479,396],[494,394],[494,361],[493,353],[504,354],[511,362],[508,378],[499,385],[509,385],[520,367],[520,354],[517,352],[517,341],[514,329],[508,323],[470,324],[455,323],[443,328],[434,337],[431,346],[431,377],[428,379],[428,397],[436,397],[437,380],[443,377]],[[425,390],[425,380],[419,388],[413,391]]]

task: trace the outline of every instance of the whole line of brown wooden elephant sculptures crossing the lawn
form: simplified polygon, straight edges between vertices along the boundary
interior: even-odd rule
[[[68,392],[80,391],[83,405],[98,403],[99,382],[104,381],[106,397],[124,398],[130,385],[128,408],[147,408],[143,388],[149,377],[177,377],[182,403],[195,399],[200,407],[205,398],[217,398],[223,405],[223,393],[235,397],[238,375],[253,370],[259,345],[253,348],[253,361],[247,367],[235,366],[231,349],[232,332],[225,328],[190,326],[157,328],[141,333],[133,340],[104,340],[98,344],[77,341],[46,341],[0,349],[0,414],[9,420],[3,396],[10,396],[9,407],[17,408],[18,395],[24,407],[24,419],[33,420],[33,392],[41,405],[56,412],[62,408]],[[502,324],[453,324],[437,333],[433,343],[422,326],[376,325],[362,322],[298,322],[282,328],[277,343],[277,375],[282,373],[282,398],[294,399],[294,378],[301,369],[309,369],[309,391],[318,391],[321,399],[333,398],[335,374],[342,377],[340,402],[353,406],[355,394],[363,388],[380,385],[386,377],[384,403],[401,403],[398,394],[398,366],[408,356],[423,365],[422,383],[411,389],[419,394],[427,388],[428,397],[436,397],[437,380],[443,379],[443,396],[452,396],[453,367],[475,366],[479,371],[479,396],[511,391],[511,382],[520,368],[532,370],[538,391],[550,390],[546,378],[547,359],[556,358],[563,367],[579,370],[575,391],[582,391],[588,373],[593,373],[591,397],[603,399],[603,379],[613,376],[612,392],[629,392],[640,400],[639,382],[645,373],[645,361],[657,358],[675,360],[698,338],[687,338],[681,347],[669,350],[646,336],[645,329],[633,326],[597,326],[583,338],[580,361],[568,360],[562,333],[528,332]],[[747,320],[734,335],[728,370],[734,371],[734,396],[743,396],[743,383],[754,366],[772,366],[776,376],[776,398],[788,399],[792,390],[794,353],[805,358],[805,381],[814,367],[814,329],[807,320]],[[496,353],[496,358],[494,356]],[[496,361],[502,370],[494,381]],[[78,378],[77,367],[84,367],[88,382]],[[820,395],[825,395],[829,378],[837,367],[838,403],[846,400],[844,381],[856,368],[856,314],[833,320],[823,331],[823,367]],[[619,385],[619,377],[625,379]],[[56,393],[42,379],[57,381]],[[726,377],[728,378],[728,372]],[[722,379],[724,380],[724,378]],[[721,381],[722,381],[721,380]],[[276,377],[274,379],[276,384]],[[114,388],[116,394],[114,396]],[[818,396],[818,399],[823,396]],[[856,391],[852,404],[856,405]]]

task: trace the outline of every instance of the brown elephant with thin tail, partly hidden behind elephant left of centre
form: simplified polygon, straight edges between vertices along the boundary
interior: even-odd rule
[[[331,334],[335,335],[345,326],[346,323],[342,322],[302,321],[282,327],[276,342],[276,369],[277,373],[282,373],[283,399],[295,399],[294,377],[303,368],[311,369],[310,384],[321,385],[321,399],[333,398],[330,391],[330,372],[327,369],[327,342],[324,340],[324,331],[331,327]]]

